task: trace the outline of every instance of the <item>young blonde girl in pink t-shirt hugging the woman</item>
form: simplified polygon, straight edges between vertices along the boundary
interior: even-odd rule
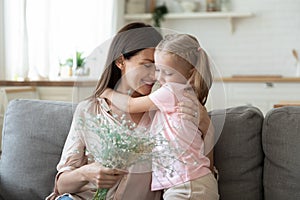
[[[202,105],[206,103],[212,84],[208,56],[195,37],[170,34],[158,44],[154,57],[156,78],[161,88],[138,98],[107,89],[103,97],[130,113],[157,110],[150,132],[163,134],[180,150],[173,160],[175,171],[172,173],[153,166],[153,191],[164,189],[165,200],[218,199],[217,182],[209,169],[210,160],[204,153],[202,133],[194,123],[182,119],[176,112],[178,102],[188,100],[184,92],[193,91]],[[118,64],[122,67],[122,59]]]

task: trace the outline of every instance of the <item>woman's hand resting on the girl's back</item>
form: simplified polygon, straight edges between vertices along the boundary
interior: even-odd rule
[[[184,96],[189,98],[191,101],[180,102],[178,104],[178,112],[182,114],[182,118],[192,121],[205,137],[208,128],[211,124],[206,108],[200,104],[197,97],[190,93],[185,92]]]

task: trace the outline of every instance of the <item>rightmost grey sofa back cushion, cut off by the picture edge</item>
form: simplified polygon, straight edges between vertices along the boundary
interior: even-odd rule
[[[265,199],[300,199],[300,107],[269,111],[262,142]]]

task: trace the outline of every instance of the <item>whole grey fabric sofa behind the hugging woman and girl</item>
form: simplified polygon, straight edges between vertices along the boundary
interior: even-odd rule
[[[51,192],[75,106],[10,102],[3,128],[0,199],[44,199]],[[216,132],[222,132],[215,146],[220,199],[300,199],[300,107],[273,109],[265,117],[250,106],[210,115]]]

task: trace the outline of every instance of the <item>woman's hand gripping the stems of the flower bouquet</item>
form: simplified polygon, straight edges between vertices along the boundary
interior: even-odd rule
[[[97,188],[111,188],[128,172],[119,169],[110,169],[94,162],[84,166],[84,176]]]

